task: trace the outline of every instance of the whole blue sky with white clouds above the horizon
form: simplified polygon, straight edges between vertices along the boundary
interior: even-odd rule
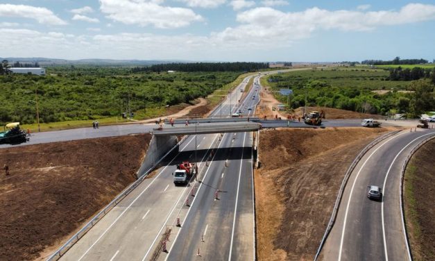
[[[0,57],[432,61],[434,32],[434,0],[0,0]]]

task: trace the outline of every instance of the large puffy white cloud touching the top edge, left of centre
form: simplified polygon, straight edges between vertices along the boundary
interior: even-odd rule
[[[100,0],[100,10],[109,19],[123,24],[157,28],[179,28],[203,20],[191,9],[161,6],[160,3],[159,0]]]

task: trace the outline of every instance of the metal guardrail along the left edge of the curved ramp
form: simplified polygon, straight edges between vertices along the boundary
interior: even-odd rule
[[[346,187],[346,184],[348,183],[350,174],[352,173],[353,169],[355,169],[355,167],[357,166],[359,160],[361,160],[362,157],[364,157],[364,155],[366,155],[367,151],[371,148],[373,148],[373,146],[375,146],[376,144],[378,144],[379,142],[381,142],[382,140],[385,140],[387,137],[391,137],[392,135],[395,135],[396,133],[399,133],[401,130],[395,130],[389,133],[386,133],[380,137],[377,137],[376,140],[373,140],[373,142],[370,142],[358,155],[357,158],[355,158],[355,160],[353,160],[352,164],[350,165],[348,171],[346,171],[346,174],[343,178],[343,181],[341,182],[341,186],[340,186],[340,190],[339,190],[339,194],[336,198],[335,204],[334,204],[334,209],[332,210],[332,214],[331,214],[331,218],[330,218],[330,222],[327,225],[327,228],[325,230],[325,234],[323,235],[322,241],[320,246],[318,246],[318,250],[316,253],[316,256],[314,257],[314,260],[317,260],[318,255],[320,255],[323,245],[325,244],[325,241],[327,239],[327,236],[330,234],[332,227],[334,226],[335,223],[335,219],[336,219],[336,215],[341,203],[341,198],[343,197],[343,192],[344,189]]]

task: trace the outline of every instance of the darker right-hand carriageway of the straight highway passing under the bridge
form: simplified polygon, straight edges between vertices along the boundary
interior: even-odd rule
[[[232,112],[245,108],[253,108],[246,112],[248,116],[255,112],[257,90],[252,88]],[[220,148],[226,149],[216,151],[215,158],[220,160],[210,162],[210,172],[201,183],[205,189],[199,190],[182,228],[177,229],[175,239],[169,239],[169,253],[162,253],[161,260],[192,260],[198,251],[205,260],[255,259],[252,144],[251,133],[223,136]]]

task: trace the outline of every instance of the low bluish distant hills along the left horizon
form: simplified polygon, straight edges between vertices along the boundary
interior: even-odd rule
[[[54,59],[54,58],[43,58],[43,57],[32,57],[32,58],[6,57],[6,58],[0,58],[0,60],[8,60],[9,64],[11,65],[14,62],[20,62],[20,63],[37,62],[40,66],[52,66],[52,65],[147,66],[147,65],[160,65],[162,63],[171,63],[171,62],[191,62],[191,61],[182,61],[182,60],[112,60],[112,59],[65,60],[65,59]]]

